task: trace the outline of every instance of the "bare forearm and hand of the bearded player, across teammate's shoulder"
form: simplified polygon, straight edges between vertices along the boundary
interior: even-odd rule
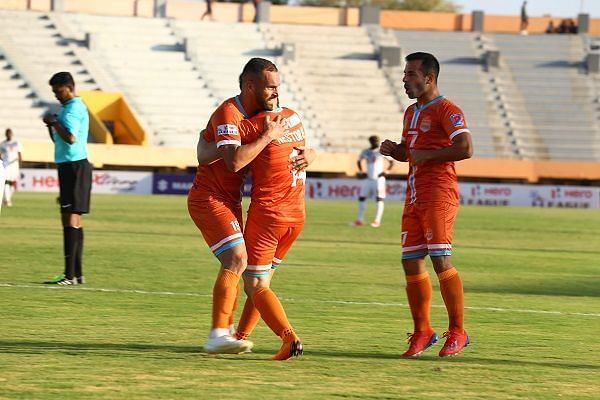
[[[269,116],[266,116],[263,133],[256,140],[245,145],[225,144],[218,146],[217,152],[230,171],[238,172],[250,164],[269,143],[283,136],[285,129],[285,120],[281,116],[278,115],[272,121]]]

